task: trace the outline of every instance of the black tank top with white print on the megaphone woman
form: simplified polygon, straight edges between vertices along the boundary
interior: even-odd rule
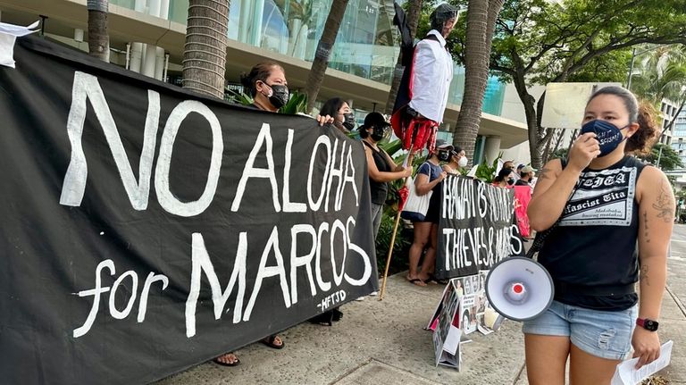
[[[582,294],[635,283],[638,277],[639,205],[636,182],[645,163],[625,156],[605,170],[589,168],[581,176],[558,226],[539,252],[556,287],[555,299],[598,310],[624,310],[635,305],[636,293]]]

